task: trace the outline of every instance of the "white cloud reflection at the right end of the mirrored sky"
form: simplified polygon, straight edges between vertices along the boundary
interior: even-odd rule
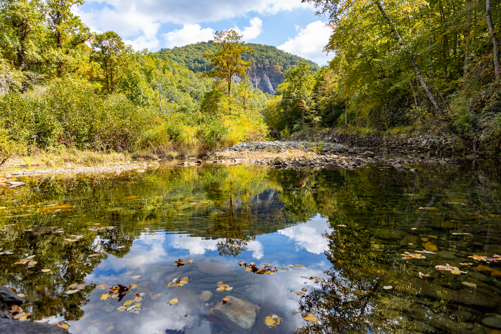
[[[307,223],[279,230],[278,232],[295,241],[298,248],[305,248],[310,253],[320,254],[329,249],[329,242],[322,237],[322,233],[326,231],[331,232],[327,220],[317,215]]]

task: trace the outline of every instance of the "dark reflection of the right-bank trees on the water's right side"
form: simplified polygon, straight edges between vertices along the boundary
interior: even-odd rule
[[[419,286],[429,284],[417,278],[417,272],[434,268],[419,267],[412,261],[401,262],[400,240],[388,238],[385,233],[397,230],[404,231],[402,236],[410,235],[410,227],[420,222],[419,226],[428,228],[427,234],[443,238],[443,246],[440,239],[430,238],[440,249],[483,252],[483,245],[492,236],[482,235],[479,230],[482,225],[472,225],[478,236],[471,236],[469,241],[451,236],[449,228],[474,222],[492,224],[487,214],[499,213],[501,199],[496,186],[497,167],[470,168],[467,164],[459,169],[443,165],[426,167],[430,168],[418,167],[421,171],[417,174],[402,174],[393,169],[371,173],[356,170],[346,176],[344,171],[331,173],[324,182],[322,178],[316,179],[318,184],[312,196],[317,210],[329,217],[334,228],[326,235],[329,240],[326,255],[332,265],[323,276],[332,285],[319,284],[300,299],[299,312],[315,311],[320,323],[308,323],[296,330],[298,334],[417,332],[409,323],[408,314],[394,310],[399,306],[390,305],[391,298],[415,297]],[[437,210],[418,209],[428,204]],[[451,221],[455,223],[450,224]],[[483,228],[483,233],[488,228]],[[392,282],[398,289],[389,292],[382,288]],[[450,313],[457,309],[454,307],[441,310]]]

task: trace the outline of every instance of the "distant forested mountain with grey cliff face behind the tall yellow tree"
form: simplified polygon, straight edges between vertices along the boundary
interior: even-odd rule
[[[264,93],[275,94],[277,86],[284,81],[284,74],[294,65],[300,62],[310,64],[310,69],[317,72],[319,66],[312,62],[288,52],[277,49],[276,47],[262,44],[248,43],[254,48],[252,54],[244,53],[242,59],[251,62],[252,72],[249,75],[253,88],[260,89]],[[155,57],[169,57],[176,63],[185,66],[187,69],[201,73],[210,71],[209,59],[203,58],[202,54],[215,54],[217,47],[209,42],[198,42],[186,45],[180,48],[161,49],[154,53]]]

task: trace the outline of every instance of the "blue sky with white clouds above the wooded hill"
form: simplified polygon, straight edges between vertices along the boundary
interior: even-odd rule
[[[244,41],[327,64],[322,52],[330,29],[300,0],[88,0],[75,10],[95,32],[113,30],[135,50],[157,51],[208,41],[217,30],[235,29]]]

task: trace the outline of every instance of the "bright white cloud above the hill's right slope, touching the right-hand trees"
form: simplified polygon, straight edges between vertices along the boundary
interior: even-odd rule
[[[315,21],[300,29],[296,37],[277,48],[323,65],[334,57],[334,54],[326,55],[322,51],[330,36],[331,29],[322,21]]]

